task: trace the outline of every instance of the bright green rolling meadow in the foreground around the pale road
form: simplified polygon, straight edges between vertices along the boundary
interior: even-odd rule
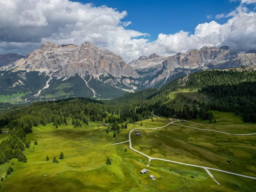
[[[255,125],[243,123],[234,114],[213,113],[218,123],[178,123],[223,132],[256,132]],[[148,158],[130,150],[128,142],[112,145],[127,141],[131,129],[162,127],[169,122],[167,118],[153,117],[153,121],[148,119],[128,124],[128,129],[121,129],[115,139],[112,132],[106,133],[102,122],[81,128],[71,125],[33,127],[33,133],[27,134],[27,140],[31,141],[30,148],[24,151],[27,163],[12,159],[0,166],[0,175],[4,176],[4,180],[0,181],[0,191],[255,191],[256,181],[240,176],[211,171],[221,184],[217,185],[200,168],[158,160],[152,160],[146,167]],[[140,129],[139,132],[141,136],[132,132],[132,146],[150,156],[256,177],[255,135],[231,136],[179,125],[157,130]],[[0,140],[7,135],[1,135]],[[34,141],[38,145],[34,145]],[[63,160],[58,159],[61,152]],[[46,156],[49,161],[46,161]],[[52,163],[54,156],[59,163]],[[107,158],[112,159],[112,165],[106,165]],[[14,163],[14,171],[5,178],[11,163]],[[147,168],[149,173],[140,174],[143,168]],[[148,179],[150,174],[156,180]]]

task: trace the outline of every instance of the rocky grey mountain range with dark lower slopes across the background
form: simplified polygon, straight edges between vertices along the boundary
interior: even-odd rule
[[[127,64],[121,56],[90,42],[81,46],[44,42],[25,57],[0,55],[0,90],[1,95],[20,93],[23,101],[72,96],[115,98],[161,87],[195,71],[255,65],[255,52],[205,46],[169,57],[141,56]]]

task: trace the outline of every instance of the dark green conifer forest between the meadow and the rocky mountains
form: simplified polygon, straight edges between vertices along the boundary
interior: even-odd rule
[[[0,164],[13,158],[27,161],[22,153],[30,144],[26,140],[26,134],[31,133],[32,127],[39,124],[46,126],[52,123],[58,128],[60,125],[72,123],[74,127],[86,128],[89,121],[100,121],[108,123],[106,132],[118,134],[120,129],[127,127],[126,123],[150,118],[152,112],[165,117],[211,121],[214,117],[210,110],[235,112],[243,116],[245,122],[255,123],[255,80],[256,71],[208,70],[178,78],[158,89],[146,89],[110,101],[67,98],[5,109],[0,112],[0,128],[5,127],[12,131],[9,138],[0,143]],[[193,100],[191,106],[178,108],[173,103],[163,104],[169,100],[170,93],[182,89],[207,94],[211,101]]]

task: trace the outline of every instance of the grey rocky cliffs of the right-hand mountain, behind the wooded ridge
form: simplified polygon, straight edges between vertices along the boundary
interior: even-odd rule
[[[242,54],[232,52],[227,46],[204,46],[200,50],[191,49],[167,58],[156,56],[152,59],[150,56],[141,56],[129,65],[143,76],[144,86],[152,87],[168,83],[173,77],[177,78],[177,74],[181,76],[193,71],[240,67],[255,63],[256,54],[253,50]]]

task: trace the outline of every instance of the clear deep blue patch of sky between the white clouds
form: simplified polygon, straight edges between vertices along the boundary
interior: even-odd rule
[[[76,1],[76,0],[73,0]],[[215,16],[229,13],[239,6],[240,1],[230,0],[78,0],[93,3],[99,7],[106,5],[118,11],[127,11],[123,21],[132,22],[126,29],[148,33],[151,41],[159,33],[177,33],[180,30],[194,32],[195,27],[204,22],[216,20]],[[218,19],[218,23],[228,18]]]

